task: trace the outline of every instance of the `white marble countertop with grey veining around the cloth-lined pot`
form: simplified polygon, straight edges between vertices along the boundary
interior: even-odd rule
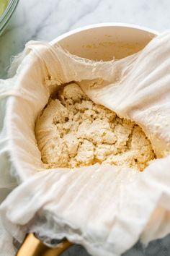
[[[0,78],[6,78],[12,56],[19,54],[28,40],[52,40],[76,27],[100,22],[125,22],[161,32],[170,27],[169,13],[169,0],[20,0],[0,37]],[[63,255],[88,254],[76,246]],[[137,244],[125,254],[132,255],[169,256],[170,236],[152,242],[148,249]]]

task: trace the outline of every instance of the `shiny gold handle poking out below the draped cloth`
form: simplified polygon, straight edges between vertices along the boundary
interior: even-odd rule
[[[73,244],[63,239],[55,248],[50,248],[37,239],[34,234],[28,234],[16,256],[59,256]]]

